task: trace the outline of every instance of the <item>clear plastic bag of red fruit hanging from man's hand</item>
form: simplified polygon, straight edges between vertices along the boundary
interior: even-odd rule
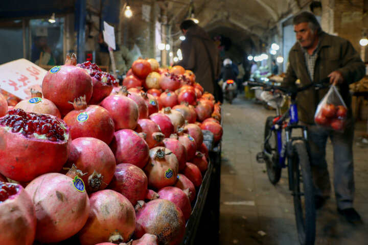
[[[317,125],[343,131],[348,114],[348,108],[336,86],[332,85],[323,99],[319,102],[314,114],[314,121]]]

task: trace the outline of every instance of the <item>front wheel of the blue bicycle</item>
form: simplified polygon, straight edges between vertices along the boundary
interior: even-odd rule
[[[288,164],[292,165],[293,199],[296,228],[302,245],[315,240],[315,206],[312,171],[308,152],[302,140],[295,140]]]

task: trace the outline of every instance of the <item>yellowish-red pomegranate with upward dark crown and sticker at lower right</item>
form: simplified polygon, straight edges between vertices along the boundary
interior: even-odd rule
[[[143,168],[148,178],[148,186],[160,189],[173,185],[178,174],[178,160],[172,152],[157,146],[149,152],[149,160]]]

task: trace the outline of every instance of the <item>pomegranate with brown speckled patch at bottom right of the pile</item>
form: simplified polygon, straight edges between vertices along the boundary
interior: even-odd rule
[[[157,236],[158,244],[178,245],[184,237],[186,223],[181,210],[171,201],[156,199],[135,205],[135,238],[149,233]]]

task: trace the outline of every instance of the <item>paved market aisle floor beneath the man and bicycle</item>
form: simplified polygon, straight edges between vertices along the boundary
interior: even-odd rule
[[[224,134],[219,244],[298,244],[286,169],[283,169],[279,184],[273,186],[265,172],[265,164],[256,161],[263,139],[264,122],[274,111],[266,110],[254,99],[244,99],[244,95],[239,95],[233,105],[225,102],[222,108]],[[366,133],[366,122],[358,122],[353,145],[354,206],[363,224],[353,225],[341,217],[332,197],[327,205],[317,210],[315,244],[368,244],[368,144],[364,144],[359,137],[362,132]],[[327,154],[329,169],[332,169],[330,143]],[[331,170],[330,175],[332,181]]]

